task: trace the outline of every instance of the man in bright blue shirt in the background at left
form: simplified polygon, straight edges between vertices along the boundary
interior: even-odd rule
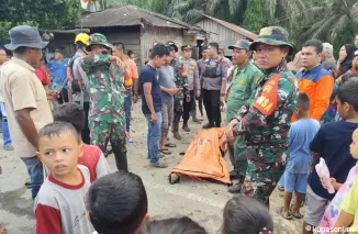
[[[52,76],[52,82],[57,85],[58,87],[64,87],[67,83],[67,65],[69,59],[64,58],[63,51],[57,48],[55,49],[55,59],[48,62],[47,69]],[[65,83],[65,85],[64,85]],[[63,90],[58,90],[59,98],[58,103],[68,102],[68,91],[67,88],[63,88]]]

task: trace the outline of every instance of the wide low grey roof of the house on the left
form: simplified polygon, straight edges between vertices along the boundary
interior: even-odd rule
[[[146,11],[136,5],[112,8],[101,12],[82,15],[82,26],[89,29],[104,26],[132,26],[142,24],[161,27],[199,30],[197,26],[191,26],[184,22],[170,19],[163,14]]]

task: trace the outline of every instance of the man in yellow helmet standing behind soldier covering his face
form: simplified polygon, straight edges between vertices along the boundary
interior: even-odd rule
[[[86,144],[91,143],[90,130],[88,126],[88,112],[90,108],[90,87],[88,77],[82,69],[83,57],[88,55],[86,46],[89,45],[89,35],[87,33],[79,33],[75,38],[76,54],[71,57],[68,69],[69,79],[71,81],[71,92],[74,93],[74,101],[81,104],[85,110],[85,127],[82,131],[82,141]]]

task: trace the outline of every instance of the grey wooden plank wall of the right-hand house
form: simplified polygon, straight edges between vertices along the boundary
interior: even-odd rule
[[[219,43],[219,46],[224,49],[227,56],[232,56],[232,51],[227,48],[228,46],[234,45],[237,40],[246,38],[244,35],[208,18],[197,22],[195,25],[210,33],[209,42]]]

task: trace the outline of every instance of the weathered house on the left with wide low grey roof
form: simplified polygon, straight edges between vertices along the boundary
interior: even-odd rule
[[[126,51],[133,51],[138,65],[148,60],[149,49],[157,43],[175,42],[197,45],[198,26],[149,12],[136,5],[124,5],[85,14],[81,26],[91,33],[102,33],[110,43],[122,42]]]

